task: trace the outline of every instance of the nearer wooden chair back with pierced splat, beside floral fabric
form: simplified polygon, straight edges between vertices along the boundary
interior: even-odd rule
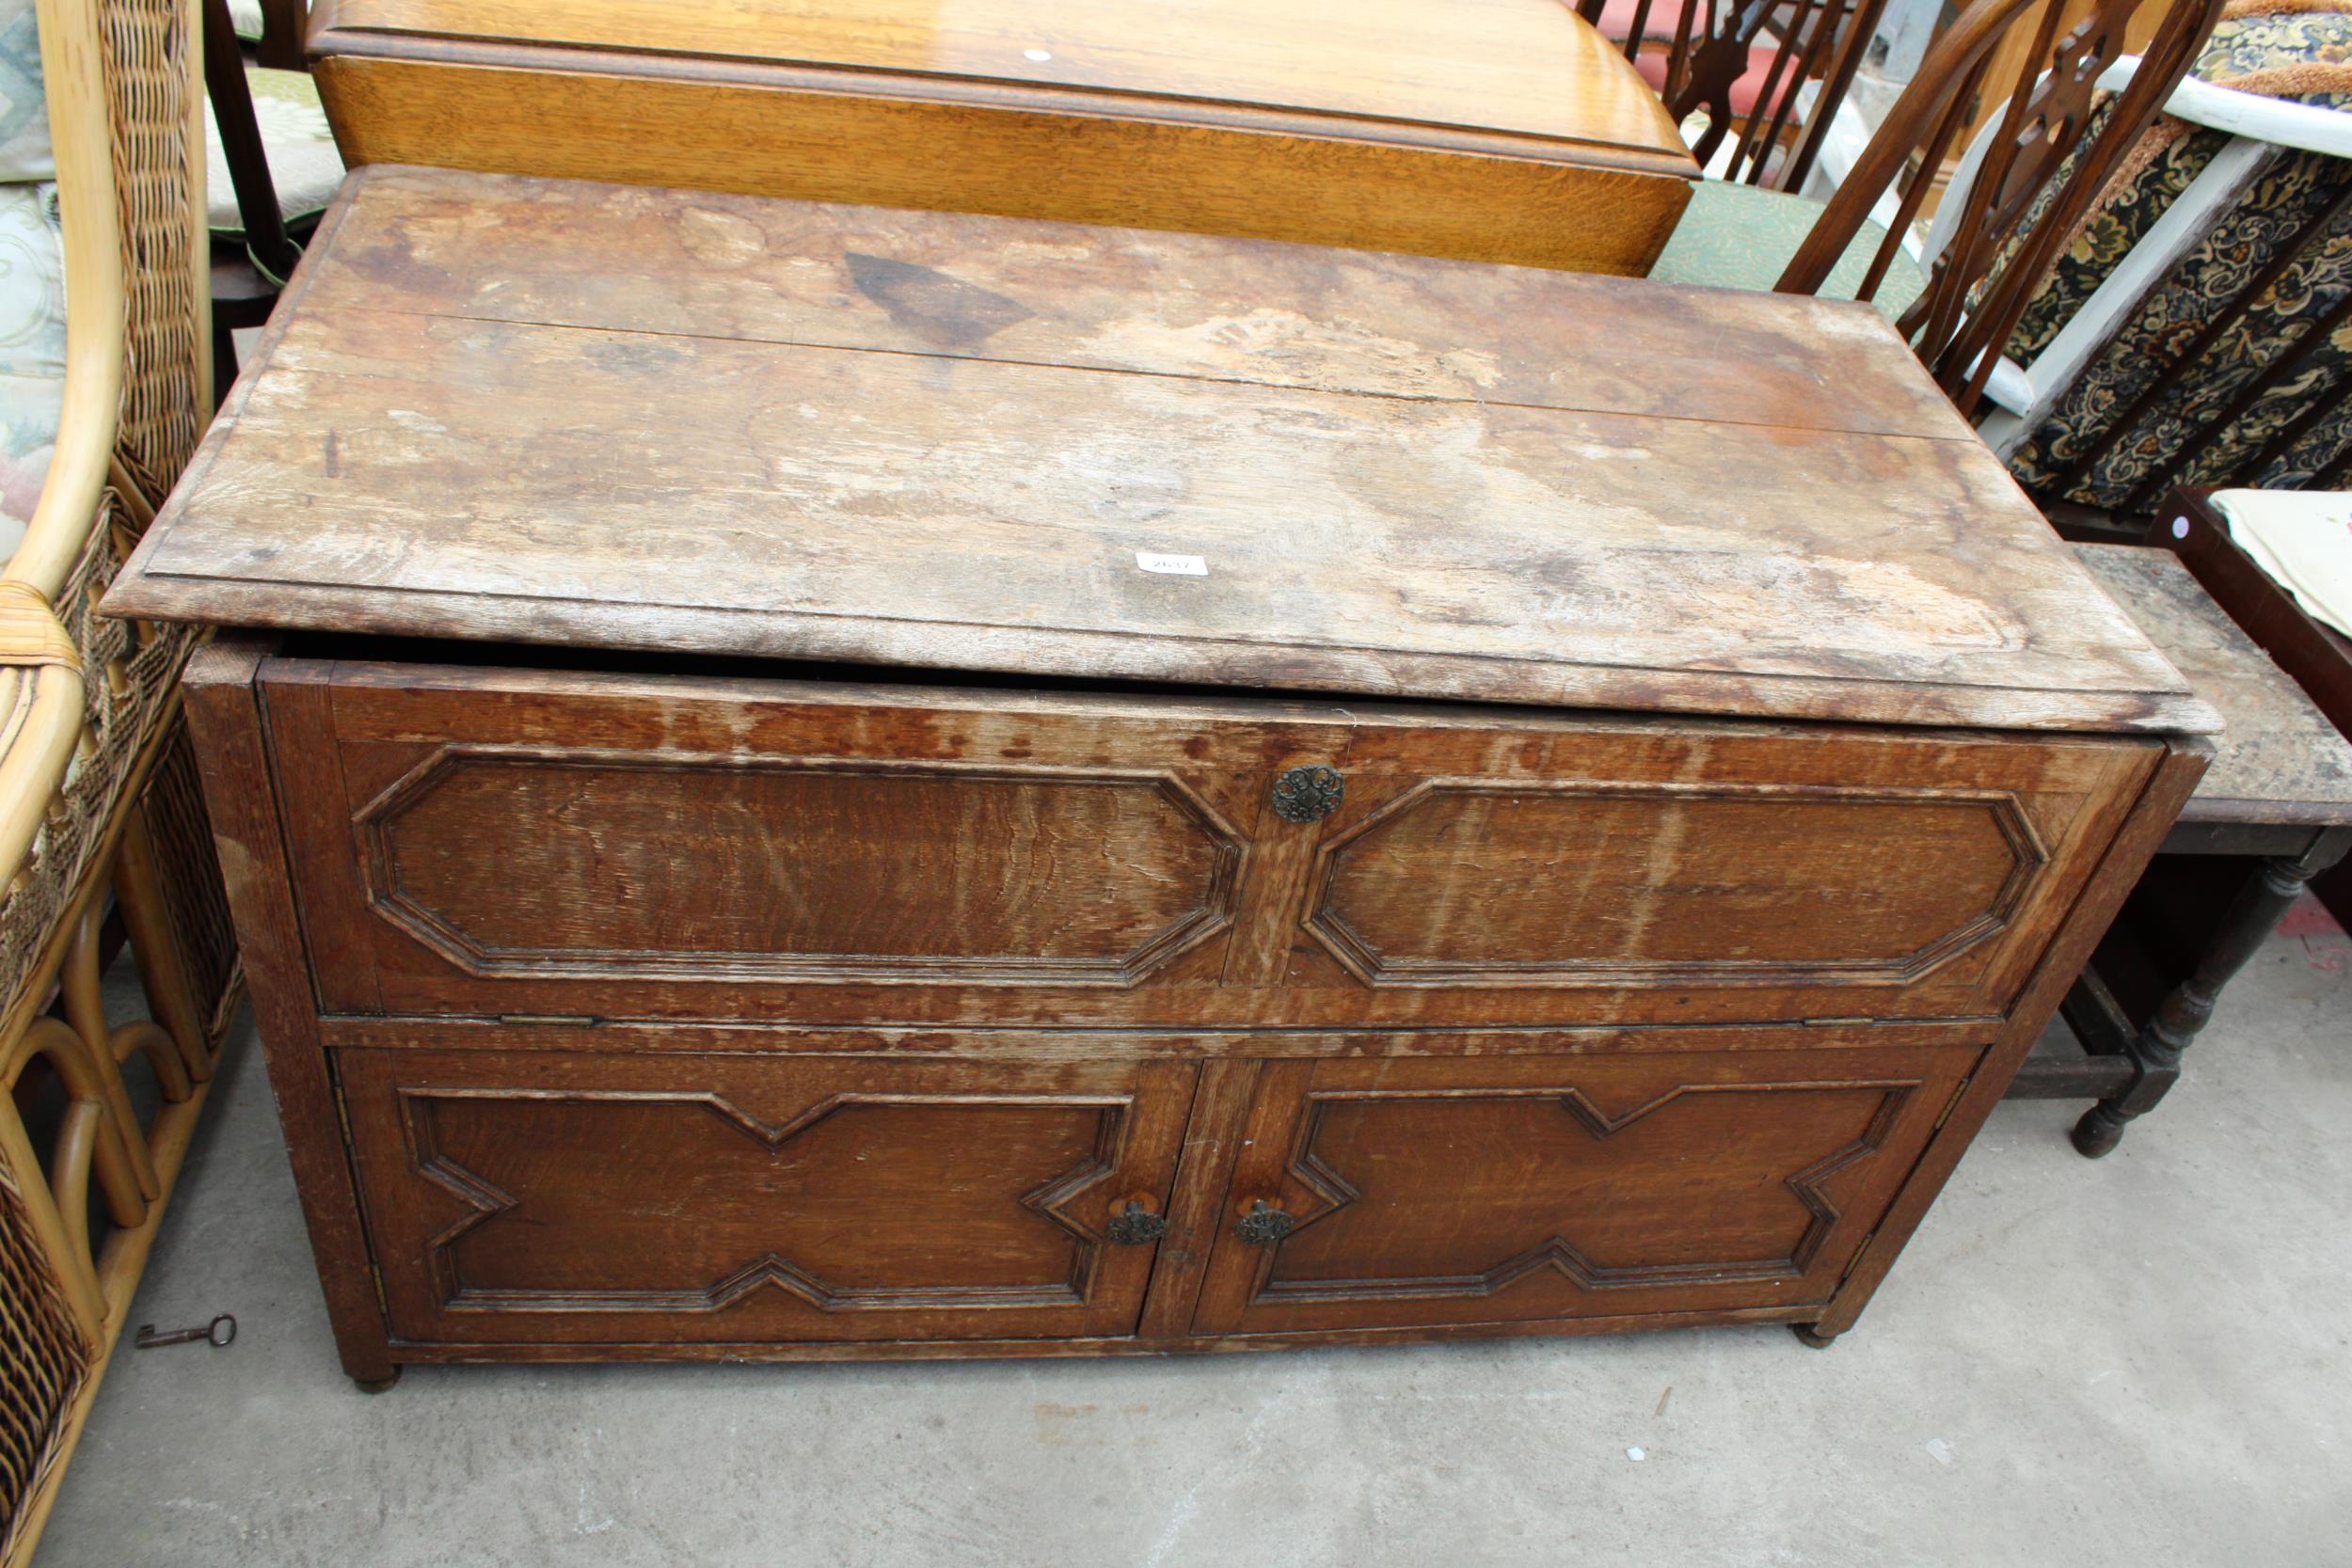
[[[1872,296],[1919,216],[1959,134],[1992,94],[2002,108],[1976,181],[1929,263],[1926,292],[1898,322],[1943,390],[1973,414],[1999,350],[2074,223],[2117,162],[2157,118],[2220,16],[2223,0],[2171,0],[2124,92],[2093,103],[2098,75],[2124,54],[2124,28],[2143,0],[2096,0],[2060,33],[2046,0],[1973,0],[1929,49],[1919,75],[1870,139],[1853,172],[1788,263],[1776,289],[1813,294],[1853,244],[1879,197],[1898,190],[1896,221],[1858,294]],[[2011,28],[2034,28],[2016,80],[1987,80]]]

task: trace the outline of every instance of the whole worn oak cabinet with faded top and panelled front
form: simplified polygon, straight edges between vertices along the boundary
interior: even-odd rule
[[[1867,306],[383,165],[106,609],[369,1387],[1828,1340],[2213,726]]]

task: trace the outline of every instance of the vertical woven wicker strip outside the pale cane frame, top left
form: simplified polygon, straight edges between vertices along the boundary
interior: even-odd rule
[[[101,0],[99,28],[106,38],[129,289],[115,451],[148,503],[160,505],[212,409],[198,376],[200,202],[188,162],[188,94],[202,92],[195,7],[183,0]]]

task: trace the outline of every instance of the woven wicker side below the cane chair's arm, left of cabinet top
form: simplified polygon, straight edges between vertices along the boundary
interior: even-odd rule
[[[132,762],[155,733],[172,682],[193,646],[188,628],[99,614],[99,599],[115,581],[127,545],[113,527],[118,512],[120,503],[106,491],[99,527],[56,595],[56,618],[82,651],[82,738],[49,802],[47,820],[33,835],[24,870],[0,896],[0,999],[14,997],[24,985],[80,886]]]

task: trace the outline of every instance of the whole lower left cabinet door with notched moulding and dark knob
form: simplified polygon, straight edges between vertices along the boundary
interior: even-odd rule
[[[1195,1067],[339,1053],[393,1338],[1129,1335]]]

